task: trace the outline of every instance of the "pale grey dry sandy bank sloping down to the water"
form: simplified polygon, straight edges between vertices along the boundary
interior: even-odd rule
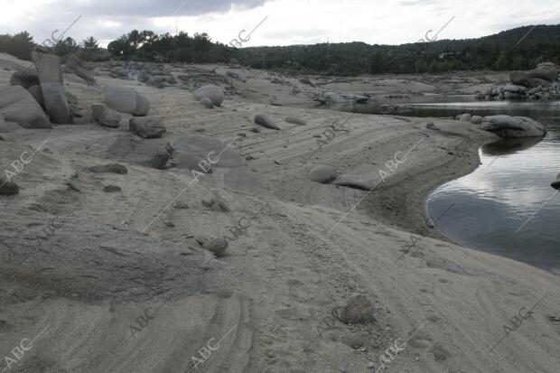
[[[9,84],[12,72],[0,70],[0,85]],[[108,151],[117,137],[129,136],[122,126],[2,134],[2,170],[49,139],[14,178],[20,193],[0,198],[1,356],[15,359],[12,350],[41,333],[5,371],[372,372],[396,339],[412,334],[387,371],[558,371],[560,277],[453,245],[425,223],[427,193],[474,169],[478,146],[493,135],[453,120],[272,106],[271,99],[309,102],[294,94],[294,86],[307,88],[295,78],[271,84],[265,72],[238,72],[247,79],[230,79],[239,95],[211,110],[187,90],[98,75],[101,84],[135,87],[149,98],[150,114],[173,108],[163,139],[203,129],[226,144],[235,139],[230,148],[252,158],[200,182],[185,171],[126,162],[126,174],[89,172],[123,159]],[[362,88],[380,79],[403,78],[364,78],[361,87],[345,90],[373,91]],[[422,90],[428,80],[442,79],[424,76],[404,87]],[[80,105],[100,98],[98,89],[67,81]],[[380,94],[402,90],[390,84]],[[475,84],[486,82],[461,87]],[[252,132],[257,113],[280,131]],[[307,125],[287,124],[285,117]],[[441,130],[426,129],[427,121]],[[348,131],[335,132],[317,151],[314,136],[333,123],[346,123]],[[396,154],[401,160],[407,154],[406,162],[369,192],[306,178],[315,164],[378,176]],[[107,193],[107,185],[122,191]],[[213,196],[229,211],[201,203]],[[175,208],[177,202],[189,209]],[[239,218],[251,216],[228,256],[215,258],[197,243],[200,236],[230,236]],[[51,234],[39,245],[45,227]],[[411,237],[424,232],[410,247]],[[356,294],[374,304],[375,322],[337,318]],[[536,303],[530,317],[519,317]],[[514,316],[521,324],[511,324]],[[196,369],[193,357],[202,361]]]

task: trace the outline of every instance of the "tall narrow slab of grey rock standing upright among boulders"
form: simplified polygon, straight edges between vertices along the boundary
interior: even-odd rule
[[[58,124],[71,123],[72,113],[62,83],[61,58],[37,51],[33,51],[32,58],[51,121]]]

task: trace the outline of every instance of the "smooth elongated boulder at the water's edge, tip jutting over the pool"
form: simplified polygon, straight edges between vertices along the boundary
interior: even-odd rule
[[[537,137],[546,135],[546,127],[528,117],[484,117],[481,128],[500,137]]]

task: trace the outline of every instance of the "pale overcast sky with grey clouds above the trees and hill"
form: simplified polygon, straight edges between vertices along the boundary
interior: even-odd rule
[[[35,42],[94,36],[106,46],[130,30],[206,32],[229,43],[266,21],[243,46],[316,42],[417,42],[480,37],[529,24],[560,23],[558,0],[0,0],[0,33],[32,33]]]

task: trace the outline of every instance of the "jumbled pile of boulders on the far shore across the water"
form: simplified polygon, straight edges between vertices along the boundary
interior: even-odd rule
[[[478,99],[503,100],[515,98],[551,99],[560,98],[560,70],[552,62],[543,62],[529,71],[512,71],[509,84],[494,84],[486,91],[479,92]]]

